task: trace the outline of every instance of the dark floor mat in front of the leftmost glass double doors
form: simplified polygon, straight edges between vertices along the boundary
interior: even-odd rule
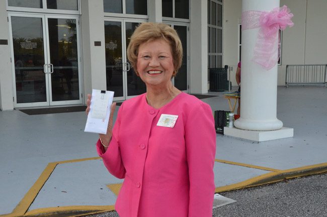
[[[70,107],[56,107],[56,108],[40,108],[40,109],[19,109],[28,115],[37,114],[54,114],[54,113],[65,113],[65,112],[80,112],[85,111],[86,106],[70,106]]]

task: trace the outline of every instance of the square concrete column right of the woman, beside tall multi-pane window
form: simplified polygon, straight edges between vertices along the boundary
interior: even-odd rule
[[[190,0],[190,92],[208,93],[207,1]]]

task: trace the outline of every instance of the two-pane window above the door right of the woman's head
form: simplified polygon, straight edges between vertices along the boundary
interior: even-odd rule
[[[189,19],[189,0],[162,0],[162,17]]]

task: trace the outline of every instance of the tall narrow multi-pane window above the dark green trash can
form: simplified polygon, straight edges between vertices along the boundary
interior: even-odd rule
[[[222,64],[222,2],[208,0],[208,67]]]

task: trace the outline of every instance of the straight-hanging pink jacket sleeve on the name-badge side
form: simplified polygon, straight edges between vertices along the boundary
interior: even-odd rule
[[[208,104],[201,102],[189,113],[185,123],[185,142],[190,179],[189,217],[211,217],[216,132]]]

